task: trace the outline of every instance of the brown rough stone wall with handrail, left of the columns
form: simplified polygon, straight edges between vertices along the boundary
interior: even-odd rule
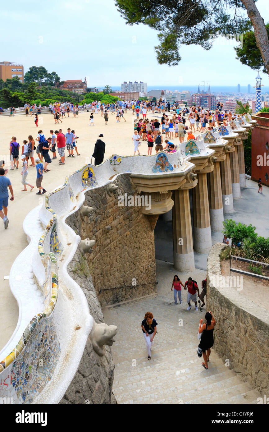
[[[118,195],[137,194],[128,174],[118,176],[114,184],[118,189],[111,196],[105,187],[85,194],[84,204],[95,211],[84,221],[79,212],[67,220],[82,239],[96,241],[93,252],[86,253],[85,257],[102,307],[156,292],[156,285],[152,282],[156,281],[153,229],[157,218],[143,215],[142,207],[118,205]],[[99,294],[100,289],[130,286],[133,278],[137,283],[133,288]],[[151,284],[138,285],[148,282]]]

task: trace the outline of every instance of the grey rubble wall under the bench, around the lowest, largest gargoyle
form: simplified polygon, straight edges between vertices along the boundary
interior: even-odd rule
[[[89,312],[95,322],[104,322],[84,254],[77,250],[67,270],[82,288],[88,301]],[[114,362],[111,348],[108,345],[104,345],[104,347],[106,349],[105,355],[98,356],[88,337],[79,368],[60,403],[117,403],[112,393]]]

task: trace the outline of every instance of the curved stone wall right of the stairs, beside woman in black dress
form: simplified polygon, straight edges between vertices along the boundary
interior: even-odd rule
[[[222,243],[215,244],[207,260],[207,310],[217,323],[214,349],[224,361],[229,359],[230,367],[244,381],[269,394],[269,314],[234,288],[215,286],[214,276],[221,276],[222,248]]]

